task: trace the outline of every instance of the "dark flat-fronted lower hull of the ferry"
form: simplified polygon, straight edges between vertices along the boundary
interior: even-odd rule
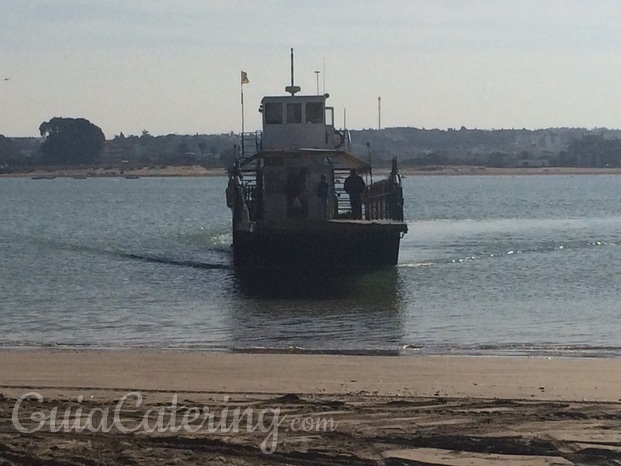
[[[238,268],[280,271],[363,271],[399,258],[403,223],[316,222],[258,226],[233,235]]]

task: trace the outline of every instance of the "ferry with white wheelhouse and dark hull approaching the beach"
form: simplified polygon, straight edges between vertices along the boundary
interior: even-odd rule
[[[298,94],[293,51],[291,70],[288,95],[262,99],[262,130],[242,131],[228,171],[236,270],[324,273],[395,266],[407,232],[396,158],[387,177],[372,182],[370,163],[350,152],[348,131],[334,126],[329,95]],[[366,178],[359,213],[345,192],[351,175]]]

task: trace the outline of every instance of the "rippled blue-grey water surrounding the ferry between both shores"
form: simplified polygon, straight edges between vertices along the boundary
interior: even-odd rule
[[[305,292],[236,275],[225,184],[0,179],[0,347],[621,355],[621,176],[406,178],[399,266]]]

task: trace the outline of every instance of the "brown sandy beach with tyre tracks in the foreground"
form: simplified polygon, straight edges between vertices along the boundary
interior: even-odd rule
[[[611,359],[3,351],[0,464],[620,464],[620,387]]]

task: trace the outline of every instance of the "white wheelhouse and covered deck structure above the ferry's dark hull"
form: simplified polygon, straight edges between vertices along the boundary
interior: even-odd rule
[[[231,183],[241,188],[248,220],[351,218],[345,178],[352,169],[370,175],[371,166],[347,151],[346,132],[334,128],[334,109],[326,107],[327,94],[298,96],[297,86],[286,90],[291,95],[261,100],[262,131],[242,135],[242,158]],[[245,156],[244,148],[253,146],[256,153]],[[393,218],[389,205],[394,204],[390,200],[394,186],[367,186],[364,218]]]

